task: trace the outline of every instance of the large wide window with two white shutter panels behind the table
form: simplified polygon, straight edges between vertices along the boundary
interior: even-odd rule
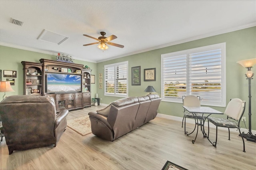
[[[200,96],[202,105],[226,106],[226,43],[161,55],[162,101]]]

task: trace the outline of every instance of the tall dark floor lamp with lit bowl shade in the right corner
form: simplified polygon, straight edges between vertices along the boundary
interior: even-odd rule
[[[252,58],[252,59],[245,59],[245,60],[241,60],[241,61],[237,61],[237,63],[241,64],[243,67],[245,67],[247,69],[245,77],[246,79],[248,79],[249,81],[249,132],[248,133],[242,133],[242,136],[244,138],[246,138],[246,140],[248,141],[252,141],[252,142],[256,142],[256,135],[252,134],[252,103],[251,103],[251,79],[253,79],[252,77],[254,76],[254,73],[252,73],[251,68],[252,66],[254,66],[256,64],[256,58]]]

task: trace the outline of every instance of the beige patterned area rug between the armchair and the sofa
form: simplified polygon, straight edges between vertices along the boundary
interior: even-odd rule
[[[85,136],[86,134],[90,134],[92,132],[91,130],[91,122],[89,119],[89,116],[83,116],[83,117],[78,117],[75,119],[70,119],[67,120],[68,122],[68,127],[75,130],[82,136]]]

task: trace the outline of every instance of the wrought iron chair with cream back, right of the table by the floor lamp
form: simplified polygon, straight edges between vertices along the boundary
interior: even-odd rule
[[[209,121],[213,123],[216,126],[216,140],[215,142],[211,142],[210,139],[208,140],[211,142],[212,146],[216,147],[217,145],[217,136],[218,136],[218,127],[226,127],[228,128],[228,140],[230,140],[230,130],[229,128],[238,128],[240,136],[243,140],[244,145],[244,138],[242,137],[241,130],[240,130],[240,121],[242,120],[242,116],[244,115],[245,110],[245,101],[242,101],[241,99],[231,99],[228,103],[226,110],[224,112],[225,115],[227,115],[227,119],[223,118],[217,118],[217,117],[208,117],[208,123]],[[208,134],[209,134],[209,126],[208,126]],[[245,145],[244,150],[245,152]]]

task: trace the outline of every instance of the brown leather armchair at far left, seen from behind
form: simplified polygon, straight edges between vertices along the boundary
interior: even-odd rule
[[[68,110],[56,113],[48,96],[16,95],[0,103],[0,117],[9,154],[50,144],[57,145],[66,130]]]

